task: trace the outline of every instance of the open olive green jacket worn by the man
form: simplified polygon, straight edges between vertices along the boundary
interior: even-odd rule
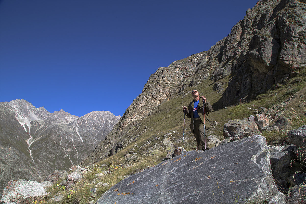
[[[186,116],[188,118],[191,118],[191,123],[190,123],[190,129],[191,129],[191,132],[193,132],[193,103],[194,103],[194,100],[192,102],[189,103],[189,106],[188,106],[188,109],[187,109],[187,112],[186,112]],[[204,123],[204,113],[203,113],[203,103],[200,104],[199,102],[199,105],[198,105],[198,114],[202,120],[202,122]],[[210,120],[209,120],[209,112],[212,111],[212,106],[211,104],[206,101],[204,103],[204,108],[205,108],[205,129],[208,130],[208,128],[210,128]]]

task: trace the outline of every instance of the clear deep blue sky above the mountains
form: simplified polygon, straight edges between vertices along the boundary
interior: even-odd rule
[[[0,0],[0,102],[122,116],[158,67],[209,50],[256,2]]]

